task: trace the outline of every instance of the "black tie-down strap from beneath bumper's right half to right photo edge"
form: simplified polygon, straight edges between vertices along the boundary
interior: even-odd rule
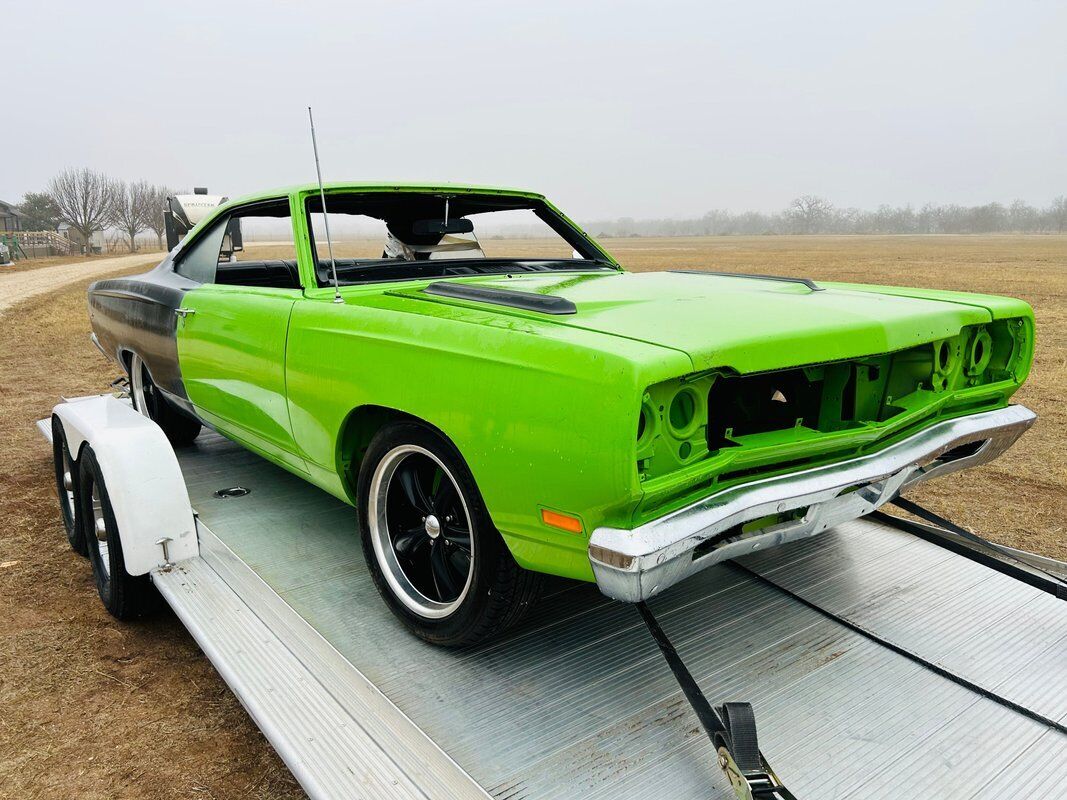
[[[1023,561],[1012,553],[1012,550],[1001,547],[999,544],[983,539],[982,537],[959,527],[955,523],[945,519],[943,516],[935,514],[929,509],[923,508],[918,502],[906,500],[903,497],[897,497],[892,500],[892,503],[897,508],[907,511],[909,514],[914,514],[920,519],[925,519],[931,525],[942,528],[944,531],[947,531],[947,534],[928,530],[921,525],[915,525],[907,519],[885,514],[880,511],[876,511],[872,516],[876,516],[879,519],[888,522],[893,527],[905,530],[908,533],[917,535],[927,542],[931,542],[939,547],[944,547],[953,553],[966,556],[972,561],[976,561],[984,566],[988,566],[990,570],[997,570],[998,572],[1017,580],[1021,580],[1035,589],[1048,592],[1060,599],[1067,599],[1067,580],[1058,575]],[[966,540],[971,544],[965,544],[959,541],[960,539]],[[975,549],[974,546],[971,545],[975,545],[980,549]],[[1003,559],[1005,558],[1010,559],[1014,563],[1004,561]],[[1017,564],[1021,564],[1021,566]]]

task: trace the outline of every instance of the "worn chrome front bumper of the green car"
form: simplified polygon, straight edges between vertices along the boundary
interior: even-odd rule
[[[596,528],[589,540],[596,585],[616,599],[648,599],[719,561],[815,535],[921,481],[992,461],[1035,419],[1022,405],[972,414],[877,453],[723,490],[633,530]],[[752,519],[797,509],[796,519],[739,532]]]

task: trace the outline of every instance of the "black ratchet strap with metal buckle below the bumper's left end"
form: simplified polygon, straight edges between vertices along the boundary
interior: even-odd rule
[[[796,800],[793,793],[778,780],[778,775],[760,752],[755,738],[755,715],[752,713],[751,704],[723,703],[716,713],[682,657],[674,650],[674,645],[659,627],[652,609],[644,603],[636,605],[649,633],[659,645],[659,652],[667,660],[667,666],[682,687],[682,693],[689,701],[704,733],[715,746],[719,768],[726,773],[738,800]]]

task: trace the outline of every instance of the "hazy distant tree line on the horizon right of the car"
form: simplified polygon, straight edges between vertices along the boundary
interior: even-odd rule
[[[837,208],[824,197],[806,194],[782,211],[712,210],[690,219],[595,221],[586,229],[598,236],[763,236],[773,234],[1063,234],[1067,231],[1067,196],[1038,208],[1023,201],[1004,206],[879,206],[873,211]]]

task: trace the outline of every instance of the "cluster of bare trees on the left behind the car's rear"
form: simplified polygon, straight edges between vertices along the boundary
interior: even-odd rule
[[[149,230],[163,246],[163,208],[174,193],[165,186],[116,180],[83,167],[64,170],[43,192],[27,192],[17,208],[23,230],[55,230],[66,223],[87,245],[93,234],[115,229],[132,253],[137,237]]]

